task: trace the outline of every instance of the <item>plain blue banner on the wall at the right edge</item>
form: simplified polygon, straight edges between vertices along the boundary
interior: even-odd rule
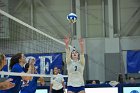
[[[127,73],[140,73],[140,51],[127,51]]]

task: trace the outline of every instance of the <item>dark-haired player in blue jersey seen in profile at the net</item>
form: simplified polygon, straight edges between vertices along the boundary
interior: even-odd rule
[[[24,54],[18,53],[12,56],[10,60],[11,72],[24,73],[23,66],[25,63],[26,63],[26,60],[25,60]],[[29,70],[27,71],[27,73],[31,73],[32,68],[33,68],[33,65],[30,64]],[[11,89],[4,90],[4,93],[19,93],[21,89],[21,84],[22,84],[21,79],[26,80],[26,81],[32,79],[31,76],[9,76],[9,78],[13,79],[12,82],[15,83],[15,86]]]

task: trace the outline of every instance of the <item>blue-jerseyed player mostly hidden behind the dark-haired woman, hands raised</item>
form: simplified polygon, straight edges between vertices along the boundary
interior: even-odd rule
[[[33,59],[33,58],[29,59],[29,62],[25,65],[25,72],[28,71],[29,64],[31,62],[33,64],[35,64],[35,59]],[[37,74],[37,71],[36,71],[35,67],[34,67],[34,69],[32,71],[33,71],[32,74]],[[26,82],[26,81],[24,82],[23,81],[24,84],[22,85],[20,93],[35,93],[36,88],[37,88],[37,80],[38,79],[40,80],[41,85],[45,84],[44,78],[33,77],[33,79],[31,81],[29,81],[29,82]]]

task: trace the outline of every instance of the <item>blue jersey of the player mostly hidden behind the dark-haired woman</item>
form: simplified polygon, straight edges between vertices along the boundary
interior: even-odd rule
[[[38,77],[33,77],[32,81],[29,81],[27,86],[22,87],[20,93],[35,93],[37,88]]]

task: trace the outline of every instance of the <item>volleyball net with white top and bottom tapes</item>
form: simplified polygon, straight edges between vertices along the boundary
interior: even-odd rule
[[[57,33],[37,29],[0,9],[0,48],[0,52],[4,54],[63,53],[65,43]],[[41,74],[30,75],[13,72],[0,72],[0,74],[41,76]],[[50,77],[50,75],[44,73],[42,77]]]

